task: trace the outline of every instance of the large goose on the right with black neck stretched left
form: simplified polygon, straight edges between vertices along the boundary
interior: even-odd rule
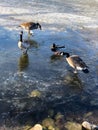
[[[66,61],[72,68],[75,69],[75,73],[77,73],[77,70],[82,70],[84,73],[89,72],[87,65],[78,55],[70,56],[70,54],[66,52],[63,52],[63,55],[66,55]]]

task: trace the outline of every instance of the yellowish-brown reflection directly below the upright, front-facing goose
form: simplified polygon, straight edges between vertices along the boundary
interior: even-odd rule
[[[26,69],[29,65],[29,57],[28,54],[22,54],[19,58],[18,61],[18,69],[19,71],[23,71],[24,69]]]

